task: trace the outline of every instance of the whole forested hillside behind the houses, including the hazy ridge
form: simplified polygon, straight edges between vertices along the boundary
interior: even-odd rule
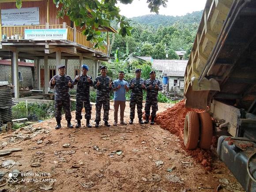
[[[121,60],[127,60],[129,55],[152,56],[153,59],[179,59],[175,51],[186,51],[184,59],[188,59],[202,13],[203,11],[195,11],[177,17],[134,17],[129,22],[132,26],[131,36],[123,38],[120,34],[109,34],[110,50],[119,55]]]

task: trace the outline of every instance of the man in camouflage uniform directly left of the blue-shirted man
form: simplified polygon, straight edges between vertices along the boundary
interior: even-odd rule
[[[101,121],[101,109],[103,105],[103,120],[104,125],[107,127],[110,127],[110,124],[108,123],[109,120],[109,97],[110,97],[110,90],[112,90],[112,82],[109,76],[107,76],[107,67],[103,66],[100,68],[101,75],[96,77],[94,80],[94,88],[97,89],[96,93],[96,124],[95,127],[99,127],[99,123]]]

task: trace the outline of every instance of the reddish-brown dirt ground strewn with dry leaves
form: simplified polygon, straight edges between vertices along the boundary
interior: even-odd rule
[[[171,105],[160,103],[158,112]],[[75,112],[72,117],[75,125]],[[94,118],[95,106],[93,125]],[[128,102],[124,119],[129,120]],[[113,125],[113,103],[109,122]],[[135,124],[109,128],[86,128],[84,119],[79,129],[67,128],[64,117],[61,123],[60,130],[51,119],[0,135],[1,150],[22,148],[0,157],[2,191],[212,192],[219,185],[222,192],[242,191],[218,158],[213,158],[218,169],[207,172],[181,148],[177,136],[159,125],[140,125],[137,118]],[[10,169],[4,168],[6,163]],[[21,176],[8,181],[14,169]]]

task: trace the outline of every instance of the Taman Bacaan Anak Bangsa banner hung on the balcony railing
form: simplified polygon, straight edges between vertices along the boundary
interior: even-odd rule
[[[67,29],[25,29],[24,39],[67,40]]]

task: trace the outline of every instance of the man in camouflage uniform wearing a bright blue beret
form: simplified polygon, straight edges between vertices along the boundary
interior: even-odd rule
[[[81,127],[81,119],[82,119],[82,109],[84,106],[86,119],[86,126],[91,128],[90,124],[90,114],[91,114],[91,105],[90,105],[90,87],[93,86],[93,81],[90,76],[87,75],[89,71],[89,67],[86,64],[82,65],[82,74],[77,75],[74,79],[74,85],[77,84],[76,88],[76,111],[75,111],[75,119],[77,120],[77,124],[75,128]]]

